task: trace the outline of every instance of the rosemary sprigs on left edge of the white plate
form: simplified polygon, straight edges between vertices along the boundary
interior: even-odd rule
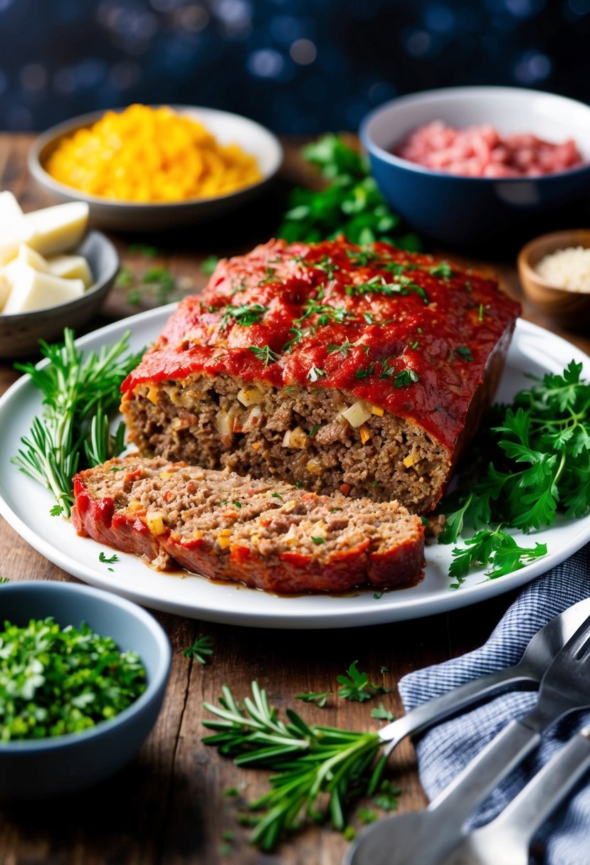
[[[12,462],[55,496],[54,516],[70,515],[72,477],[83,465],[99,465],[124,447],[124,429],[113,436],[109,416],[119,404],[120,385],[142,352],[128,353],[130,333],[99,354],[76,348],[74,331],[64,330],[63,343],[40,341],[48,363],[16,363],[43,396],[43,412]]]

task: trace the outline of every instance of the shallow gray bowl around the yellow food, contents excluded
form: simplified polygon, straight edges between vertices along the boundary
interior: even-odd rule
[[[213,108],[171,106],[176,112],[201,121],[221,144],[240,144],[256,157],[262,179],[244,189],[215,198],[195,198],[187,202],[148,204],[118,202],[97,195],[87,195],[65,183],[58,183],[45,170],[51,151],[62,138],[90,126],[105,112],[84,114],[54,126],[36,139],[29,152],[29,171],[56,202],[87,202],[94,225],[115,231],[165,231],[169,228],[195,225],[225,215],[251,201],[266,186],[283,162],[283,149],[271,131],[239,114],[215,111]],[[121,111],[116,108],[114,111]]]

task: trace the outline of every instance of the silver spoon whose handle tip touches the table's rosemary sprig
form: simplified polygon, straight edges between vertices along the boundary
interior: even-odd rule
[[[537,631],[524,650],[523,657],[512,667],[505,667],[503,670],[465,682],[464,685],[459,685],[459,688],[453,688],[446,694],[434,697],[433,700],[413,708],[401,718],[392,721],[387,727],[382,727],[379,737],[382,742],[388,742],[385,753],[391,753],[406,736],[421,733],[427,727],[432,727],[437,721],[459,712],[465,706],[497,694],[506,685],[528,685],[531,688],[538,685],[549,663],[587,616],[590,616],[590,598],[580,600],[574,606],[568,607]]]

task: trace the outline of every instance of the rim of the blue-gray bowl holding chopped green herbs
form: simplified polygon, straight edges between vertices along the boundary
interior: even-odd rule
[[[79,594],[85,596],[89,601],[92,599],[100,599],[107,605],[119,607],[131,617],[136,618],[147,631],[150,631],[151,637],[157,644],[157,668],[155,673],[148,678],[147,686],[144,693],[138,696],[138,699],[131,703],[130,706],[124,708],[122,712],[114,715],[112,718],[107,718],[105,721],[99,721],[94,727],[87,730],[82,730],[80,733],[65,733],[61,736],[48,736],[45,739],[16,739],[8,742],[0,741],[0,759],[3,753],[18,753],[19,751],[31,753],[35,751],[61,750],[72,745],[82,745],[85,742],[93,739],[99,739],[104,734],[115,732],[119,727],[124,727],[129,721],[141,714],[157,694],[157,691],[165,685],[170,672],[170,664],[172,660],[172,650],[170,648],[170,640],[162,625],[157,622],[150,612],[144,610],[143,607],[135,604],[131,600],[122,598],[104,589],[97,589],[93,586],[82,586],[79,583],[70,583],[67,581],[57,580],[22,580],[17,583],[8,583],[0,587],[0,592],[19,593],[26,595],[32,591],[35,586],[42,586],[44,590],[56,595],[61,594]],[[0,594],[0,600],[2,595]],[[108,635],[105,635],[108,636]]]

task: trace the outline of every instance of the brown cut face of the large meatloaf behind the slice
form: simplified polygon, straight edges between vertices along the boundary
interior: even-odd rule
[[[146,456],[302,484],[306,490],[375,502],[401,501],[417,513],[438,501],[451,455],[419,426],[371,414],[363,444],[342,410],[356,399],[337,390],[260,382],[261,401],[246,407],[229,375],[189,375],[138,385],[124,400],[131,441]],[[285,438],[285,433],[290,435]]]

